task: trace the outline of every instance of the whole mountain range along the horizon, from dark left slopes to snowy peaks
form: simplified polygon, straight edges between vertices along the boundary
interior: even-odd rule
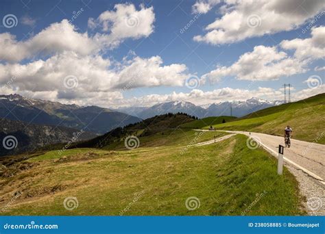
[[[186,101],[158,103],[152,107],[121,107],[107,109],[97,106],[82,107],[58,102],[30,99],[19,94],[0,95],[0,139],[10,135],[16,146],[0,155],[23,153],[52,144],[66,144],[82,131],[75,141],[95,138],[128,125],[162,114],[186,113],[189,116],[245,116],[266,107],[280,105],[280,101],[248,99],[198,106]],[[187,118],[187,117],[186,117]],[[192,118],[192,117],[189,117]],[[148,120],[149,121],[149,120]],[[151,121],[151,120],[150,120]]]

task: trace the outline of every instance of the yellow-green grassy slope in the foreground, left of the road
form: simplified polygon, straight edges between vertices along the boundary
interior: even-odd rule
[[[51,151],[0,170],[3,215],[299,215],[298,184],[243,135],[191,146],[208,132],[173,131],[168,144],[132,151]],[[140,142],[145,142],[140,138]],[[158,141],[158,135],[152,135]],[[166,138],[160,135],[160,141]],[[178,140],[177,140],[178,139]],[[184,140],[186,139],[186,140]],[[172,143],[174,141],[174,144]],[[186,148],[186,151],[184,150]],[[186,209],[186,200],[200,203]],[[77,206],[64,208],[65,199]],[[257,200],[257,202],[256,202]],[[254,204],[254,205],[252,205]],[[274,205],[281,204],[281,206]],[[71,203],[70,205],[73,205]]]

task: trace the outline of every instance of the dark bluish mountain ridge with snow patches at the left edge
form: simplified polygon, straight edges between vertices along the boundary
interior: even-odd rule
[[[140,118],[111,109],[29,99],[19,94],[0,95],[0,118],[31,122],[36,125],[54,125],[106,133]]]

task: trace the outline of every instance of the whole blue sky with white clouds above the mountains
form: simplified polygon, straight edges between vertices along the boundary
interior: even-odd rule
[[[262,4],[261,1],[256,1],[256,3],[246,3],[246,5],[233,5],[227,1],[219,2],[217,0],[1,1],[1,19],[8,14],[16,16],[17,19],[17,24],[14,27],[5,27],[5,25],[0,27],[0,45],[3,47],[1,51],[12,51],[10,52],[12,54],[21,53],[21,51],[26,53],[25,56],[21,55],[22,57],[16,54],[8,55],[9,52],[3,52],[3,55],[0,53],[2,92],[5,94],[18,92],[34,98],[50,99],[63,103],[95,104],[107,107],[152,105],[162,101],[176,100],[191,101],[203,105],[219,101],[249,99],[252,96],[264,99],[280,99],[282,98],[282,90],[279,89],[283,83],[291,83],[293,86],[293,99],[305,98],[324,92],[324,85],[322,84],[325,73],[324,44],[320,42],[315,46],[311,40],[311,38],[316,38],[312,34],[314,29],[314,34],[323,35],[324,27],[322,26],[325,23],[325,16],[322,12],[324,12],[324,2],[309,3],[314,7],[304,6],[303,1],[300,3],[300,0],[294,3],[288,1],[288,5],[281,5],[281,1],[278,0],[274,0],[274,4],[269,5],[263,3],[264,5],[258,6],[257,3]],[[117,31],[121,34],[123,34],[123,30],[129,32],[126,33],[128,36],[117,35],[114,39],[114,42],[117,43],[115,46],[112,46],[112,42],[110,42],[108,46],[103,45],[100,49],[80,52],[80,48],[88,47],[88,43],[79,46],[80,40],[67,42],[64,37],[69,38],[69,32],[64,32],[62,38],[56,40],[56,42],[59,40],[62,42],[53,42],[53,45],[51,42],[46,44],[46,47],[53,49],[44,49],[45,46],[42,44],[43,40],[51,37],[49,32],[47,32],[47,36],[43,38],[39,36],[38,40],[35,39],[38,34],[45,31],[53,23],[60,24],[64,19],[71,20],[71,17],[80,11],[80,14],[69,23],[71,27],[74,27],[73,32],[70,30],[70,33],[77,36],[86,34],[93,43],[96,34],[110,35],[110,27],[119,21],[117,17],[123,17],[123,14],[116,14],[112,16],[113,19],[106,19],[104,22],[100,20],[99,16],[103,12],[116,13],[117,4],[120,4],[123,9],[128,5],[134,6],[136,26],[118,29]],[[247,12],[243,12],[243,8],[248,9],[248,16],[245,15]],[[275,16],[269,16],[272,10],[278,11],[278,13]],[[142,15],[137,15],[137,12],[142,11],[145,13],[143,14],[144,18]],[[234,19],[227,19],[225,18],[226,14],[236,14],[236,16]],[[148,16],[154,17],[154,20],[147,22],[150,18]],[[257,26],[247,26],[247,19],[250,16],[257,17],[255,18]],[[311,29],[306,29],[316,16],[319,16],[317,22],[312,23]],[[241,17],[240,24],[236,22],[236,17]],[[95,27],[91,27],[90,18],[93,18]],[[195,21],[193,21],[194,18]],[[246,22],[243,23],[243,21]],[[219,22],[221,26],[208,29],[208,25],[213,22]],[[104,29],[105,23],[108,24],[107,29]],[[184,29],[188,24],[188,29]],[[65,30],[70,26],[64,25],[63,27]],[[147,27],[148,30],[152,31],[143,31],[139,27]],[[205,37],[209,31],[213,30],[216,33],[213,37]],[[130,31],[134,31],[134,34],[130,34]],[[9,34],[15,38],[10,39],[12,42],[8,46],[5,43],[8,43]],[[200,36],[201,39],[195,39],[195,36]],[[35,39],[34,42],[29,43],[29,41],[33,41],[33,38]],[[301,41],[296,42],[297,39]],[[100,43],[105,44],[104,40],[108,39],[104,38]],[[284,40],[290,42],[287,43],[286,47],[281,44]],[[38,48],[37,43],[42,49]],[[66,45],[65,43],[70,44]],[[78,47],[75,47],[75,44],[78,44]],[[255,51],[254,47],[258,46],[263,47]],[[34,48],[36,48],[36,53],[33,54]],[[273,51],[270,48],[273,48]],[[315,50],[317,55],[307,56],[304,53],[306,50]],[[53,59],[54,56],[58,56],[58,60],[67,59],[71,62],[72,55],[65,54],[71,51],[77,54],[75,55],[77,56],[75,64],[80,64],[77,60],[83,60],[86,57],[87,61],[91,61],[89,63],[92,66],[89,68],[82,66],[80,69],[85,69],[83,73],[80,72],[80,69],[75,68],[76,72],[74,73],[68,68],[62,68],[60,64],[52,64],[53,61],[53,63],[57,63]],[[239,60],[239,57],[253,51],[258,53],[258,56],[267,57],[269,55],[271,57],[280,56],[280,58],[278,60],[270,58],[264,64],[253,66],[252,64],[245,64],[245,62],[232,66]],[[97,60],[93,61],[96,56]],[[157,62],[157,59],[154,60],[154,64],[159,64],[155,70],[147,68],[149,65],[144,64],[143,61],[152,57],[159,57],[161,60],[161,62]],[[248,57],[250,57],[248,60],[254,59],[254,56]],[[107,66],[107,68],[95,67],[101,58],[106,60],[106,65],[103,66]],[[139,64],[134,62],[138,61],[136,58],[140,60]],[[44,64],[39,65],[42,63],[40,60]],[[38,65],[36,64],[37,61],[39,62]],[[45,61],[47,62],[45,63]],[[256,59],[254,61],[256,62]],[[288,64],[293,63],[300,65],[291,70],[285,68]],[[131,66],[132,64],[134,66]],[[184,65],[186,69],[173,68],[172,64]],[[268,67],[269,64],[275,66]],[[254,66],[258,68],[262,65],[266,67],[254,70]],[[164,66],[169,67],[164,68]],[[36,67],[38,71],[33,73]],[[53,67],[53,70],[49,67]],[[132,78],[134,76],[132,70],[136,68],[139,68],[138,76]],[[18,72],[19,69],[22,70],[21,73],[26,73],[26,69],[29,69],[28,73],[30,71],[30,74],[21,74]],[[109,74],[105,72],[105,69],[109,70]],[[276,69],[279,72],[265,78]],[[12,70],[16,70],[19,75],[13,75]],[[96,73],[95,71],[92,72],[93,70]],[[213,70],[215,73],[212,74]],[[242,70],[247,70],[247,72],[238,76],[237,73]],[[208,75],[209,73],[210,75]],[[139,74],[141,74],[140,78]],[[148,77],[145,77],[146,75]],[[171,77],[168,77],[169,75]],[[45,79],[44,77],[47,76],[48,78]],[[71,89],[60,86],[60,82],[62,84],[61,77],[67,76],[75,77],[77,80],[76,87]],[[58,83],[51,80],[51,77]],[[166,81],[167,77],[169,81]],[[189,77],[194,77],[194,80],[197,79],[200,85],[194,88],[186,86],[186,82],[190,81]],[[128,80],[129,78],[130,80]],[[307,79],[309,81],[306,81]],[[115,87],[115,83],[118,88]],[[310,87],[311,83],[316,83],[317,87]]]

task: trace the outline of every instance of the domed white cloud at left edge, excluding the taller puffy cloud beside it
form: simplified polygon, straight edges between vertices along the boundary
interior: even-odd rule
[[[63,51],[75,51],[81,55],[88,55],[98,49],[98,45],[88,37],[75,30],[67,20],[53,23],[34,37],[25,41],[17,41],[9,33],[0,34],[0,60],[19,62],[25,58],[37,55],[51,55]]]

